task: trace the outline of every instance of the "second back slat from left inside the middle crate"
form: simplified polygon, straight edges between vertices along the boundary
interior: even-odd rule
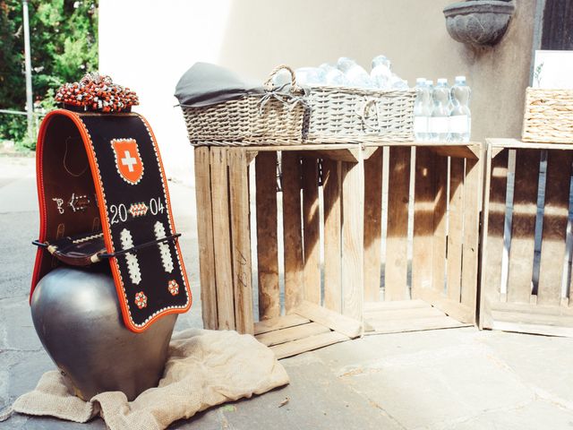
[[[405,300],[410,147],[389,150],[388,228],[386,233],[385,300]]]

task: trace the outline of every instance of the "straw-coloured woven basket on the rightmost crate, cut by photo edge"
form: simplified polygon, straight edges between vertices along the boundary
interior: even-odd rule
[[[573,143],[573,90],[527,88],[521,140]]]

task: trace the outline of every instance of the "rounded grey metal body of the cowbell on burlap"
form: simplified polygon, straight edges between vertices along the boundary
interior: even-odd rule
[[[156,386],[177,319],[161,317],[141,333],[124,324],[107,264],[60,267],[47,273],[31,299],[38,337],[83,400],[123,391],[128,400]]]

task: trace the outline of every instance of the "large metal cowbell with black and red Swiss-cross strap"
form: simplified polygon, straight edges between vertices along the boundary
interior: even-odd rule
[[[38,133],[40,233],[30,304],[38,337],[84,400],[158,383],[192,302],[167,180],[133,113],[49,113]]]

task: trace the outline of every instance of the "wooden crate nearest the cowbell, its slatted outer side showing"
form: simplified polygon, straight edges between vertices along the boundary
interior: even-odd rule
[[[339,239],[343,232],[343,201],[347,202],[346,228],[360,229],[362,225],[360,206],[354,204],[360,195],[357,181],[361,176],[356,172],[361,165],[352,145],[313,145],[312,151],[308,147],[282,148],[282,191],[278,193],[280,149],[196,148],[195,186],[205,328],[252,333],[278,357],[289,357],[355,338],[362,332],[362,285],[349,282],[344,290],[341,288],[341,273],[351,279],[353,273],[362,270],[361,254],[352,249],[357,246],[354,242],[345,242],[344,261],[338,256],[338,265],[325,267],[329,282],[323,291],[321,288],[322,202],[318,183],[319,157],[336,159],[337,177],[329,176],[324,211],[329,213],[327,228],[338,213],[339,231],[338,236],[325,240],[329,249],[338,246],[340,253],[340,244],[331,248],[330,240]],[[335,185],[338,188],[334,189]],[[347,190],[344,195],[342,185]],[[278,240],[280,236],[284,241]],[[284,270],[279,271],[280,265]],[[330,305],[340,302],[342,294],[346,298],[344,312],[340,305]]]

